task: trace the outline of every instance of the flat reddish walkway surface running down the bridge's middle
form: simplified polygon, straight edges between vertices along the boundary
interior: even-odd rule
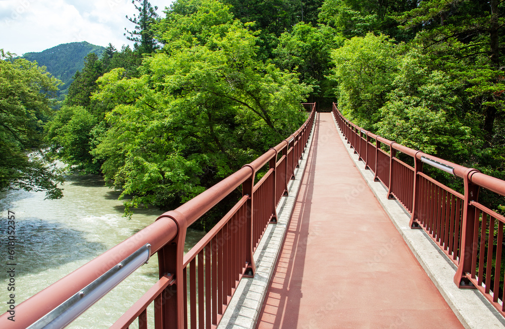
[[[258,328],[461,328],[349,158],[331,114],[307,171]]]

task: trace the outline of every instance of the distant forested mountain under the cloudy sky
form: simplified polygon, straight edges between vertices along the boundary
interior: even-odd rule
[[[33,62],[37,61],[39,66],[45,66],[47,72],[63,82],[61,85],[59,98],[68,92],[68,87],[72,83],[72,77],[77,71],[84,67],[84,58],[90,52],[96,53],[98,58],[102,56],[105,47],[97,46],[86,41],[62,43],[55,47],[45,49],[40,52],[27,52],[22,58]]]

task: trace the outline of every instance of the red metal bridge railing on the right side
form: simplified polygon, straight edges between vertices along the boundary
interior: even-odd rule
[[[505,315],[505,218],[478,201],[481,188],[505,196],[505,181],[361,129],[345,119],[335,104],[333,115],[347,143],[375,174],[375,180],[388,189],[388,198],[398,200],[411,214],[411,228],[424,229],[458,266],[455,284],[459,288],[477,288]],[[382,145],[389,151],[384,151]],[[398,159],[397,152],[411,156],[414,167]],[[424,174],[423,163],[463,179],[464,194]]]

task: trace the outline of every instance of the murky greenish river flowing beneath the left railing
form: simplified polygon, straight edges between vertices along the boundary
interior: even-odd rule
[[[5,266],[10,261],[8,210],[16,218],[15,305],[153,223],[162,213],[149,207],[136,210],[131,220],[122,217],[119,192],[104,186],[99,176],[71,176],[63,188],[64,197],[59,200],[44,200],[44,192],[0,193],[0,314],[7,311],[11,293]],[[188,229],[186,251],[203,236],[204,232]],[[108,328],[157,280],[154,256],[68,328]]]

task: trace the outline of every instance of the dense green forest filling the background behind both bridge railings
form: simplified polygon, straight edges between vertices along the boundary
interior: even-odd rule
[[[134,48],[90,53],[59,111],[29,122],[49,155],[121,189],[126,212],[215,184],[299,127],[305,100],[505,179],[503,1],[133,4]],[[28,149],[22,131],[0,133]]]

